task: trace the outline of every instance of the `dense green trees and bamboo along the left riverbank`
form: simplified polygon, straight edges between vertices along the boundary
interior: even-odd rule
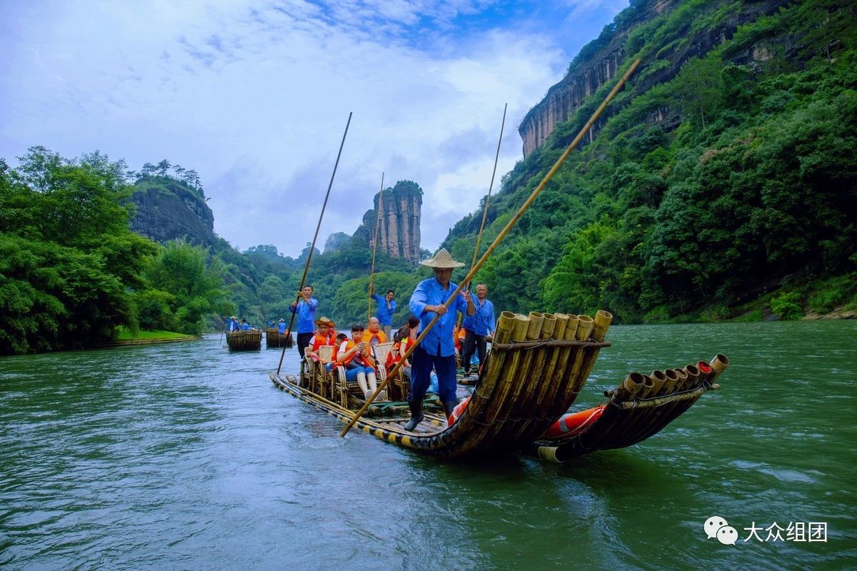
[[[108,341],[117,328],[199,333],[225,311],[217,265],[129,230],[129,172],[99,152],[0,160],[0,354]]]

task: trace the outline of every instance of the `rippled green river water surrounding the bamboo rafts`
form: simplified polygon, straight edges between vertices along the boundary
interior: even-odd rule
[[[0,568],[857,568],[857,322],[607,340],[572,410],[629,371],[731,366],[655,437],[560,465],[340,438],[274,388],[279,349],[217,336],[2,358]],[[710,516],[735,544],[706,537]]]

